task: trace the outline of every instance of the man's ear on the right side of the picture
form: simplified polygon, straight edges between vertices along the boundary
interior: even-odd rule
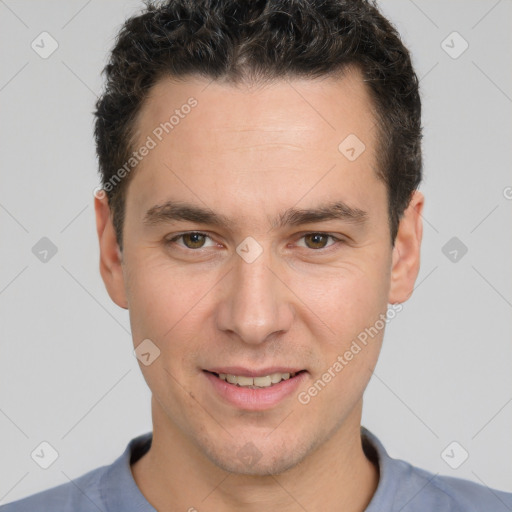
[[[388,302],[396,304],[405,302],[414,289],[414,283],[420,270],[420,249],[423,236],[424,197],[415,191],[405,210],[393,247],[391,267],[391,286]]]

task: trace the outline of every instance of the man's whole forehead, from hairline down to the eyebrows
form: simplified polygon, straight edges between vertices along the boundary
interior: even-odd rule
[[[128,195],[141,207],[178,189],[196,201],[259,194],[284,204],[308,188],[329,194],[340,180],[348,188],[361,182],[361,194],[363,182],[378,180],[372,109],[357,69],[257,86],[163,78],[136,122],[135,147],[149,137],[154,148],[138,163]],[[339,199],[331,195],[325,199]]]

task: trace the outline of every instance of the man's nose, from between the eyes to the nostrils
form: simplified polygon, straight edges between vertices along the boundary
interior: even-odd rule
[[[291,292],[278,276],[270,250],[252,262],[235,254],[219,290],[217,327],[251,345],[288,331],[294,317]]]

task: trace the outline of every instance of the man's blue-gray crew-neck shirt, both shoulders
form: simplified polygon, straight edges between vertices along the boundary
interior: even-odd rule
[[[510,512],[512,493],[469,480],[434,475],[391,458],[382,443],[361,427],[367,456],[380,479],[366,512]],[[0,506],[0,512],[155,512],[133,479],[130,462],[151,446],[152,433],[132,439],[111,465],[93,469],[57,487]],[[194,505],[194,504],[192,504]],[[201,510],[200,504],[196,506]]]

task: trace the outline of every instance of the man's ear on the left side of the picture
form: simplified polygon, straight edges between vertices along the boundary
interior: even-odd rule
[[[122,254],[117,243],[107,194],[95,194],[94,210],[96,212],[96,230],[100,243],[101,277],[110,298],[119,307],[128,309],[122,269]]]

